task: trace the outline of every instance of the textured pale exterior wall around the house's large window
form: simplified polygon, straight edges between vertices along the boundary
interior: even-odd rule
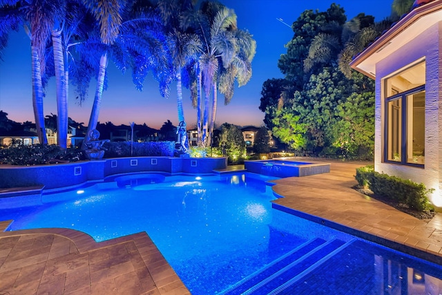
[[[432,203],[442,209],[442,22],[398,48],[376,64],[374,169],[433,188]],[[425,166],[424,168],[383,162],[385,77],[425,58]]]

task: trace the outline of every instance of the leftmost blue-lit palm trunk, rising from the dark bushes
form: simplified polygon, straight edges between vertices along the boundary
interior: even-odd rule
[[[41,65],[38,50],[31,46],[32,53],[32,106],[34,107],[35,127],[41,144],[48,144],[44,127],[43,85],[41,84]]]

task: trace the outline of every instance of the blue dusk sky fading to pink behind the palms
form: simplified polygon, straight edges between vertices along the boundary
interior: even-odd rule
[[[283,77],[278,69],[278,59],[286,53],[285,44],[293,37],[291,25],[304,10],[325,11],[331,3],[338,3],[345,9],[347,20],[358,13],[373,15],[381,21],[391,12],[392,0],[221,0],[238,16],[238,28],[249,30],[257,43],[256,55],[252,61],[253,75],[249,83],[236,87],[230,104],[224,106],[223,95],[218,95],[216,124],[224,122],[240,126],[262,126],[264,113],[260,105],[262,83],[267,79]],[[285,23],[278,21],[282,19]],[[0,60],[0,110],[8,113],[15,122],[35,122],[32,111],[30,40],[25,32],[10,35],[8,48]],[[95,93],[95,79],[90,83],[86,101],[78,104],[76,95],[70,91],[68,115],[77,122],[88,124]],[[189,128],[196,122],[196,110],[191,105],[189,92],[183,93],[184,117]],[[44,114],[57,114],[55,78],[46,87]],[[139,92],[132,83],[130,70],[122,74],[112,61],[108,65],[108,89],[102,97],[99,122],[113,122],[115,125],[135,122],[146,123],[159,129],[164,122],[171,120],[176,126],[177,106],[176,87],[171,87],[171,97],[161,97],[157,82],[152,78],[144,82],[144,90]]]

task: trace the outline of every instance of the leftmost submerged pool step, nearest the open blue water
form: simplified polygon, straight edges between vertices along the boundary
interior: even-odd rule
[[[238,283],[231,285],[227,289],[224,289],[220,294],[242,294],[242,292],[247,291],[247,289],[253,287],[254,285],[260,283],[265,278],[268,278],[272,274],[278,272],[279,269],[289,265],[294,260],[308,254],[316,247],[323,245],[325,240],[320,238],[311,239],[304,244],[296,247],[295,249],[289,251],[287,254],[284,254],[280,258],[273,260],[271,263],[265,265],[261,269],[258,269],[253,274],[246,276]]]

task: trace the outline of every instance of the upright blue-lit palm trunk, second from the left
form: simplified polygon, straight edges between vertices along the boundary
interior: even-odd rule
[[[57,84],[57,144],[66,149],[68,141],[68,97],[66,96],[66,77],[64,50],[61,44],[61,30],[52,30],[54,48],[55,79]]]

